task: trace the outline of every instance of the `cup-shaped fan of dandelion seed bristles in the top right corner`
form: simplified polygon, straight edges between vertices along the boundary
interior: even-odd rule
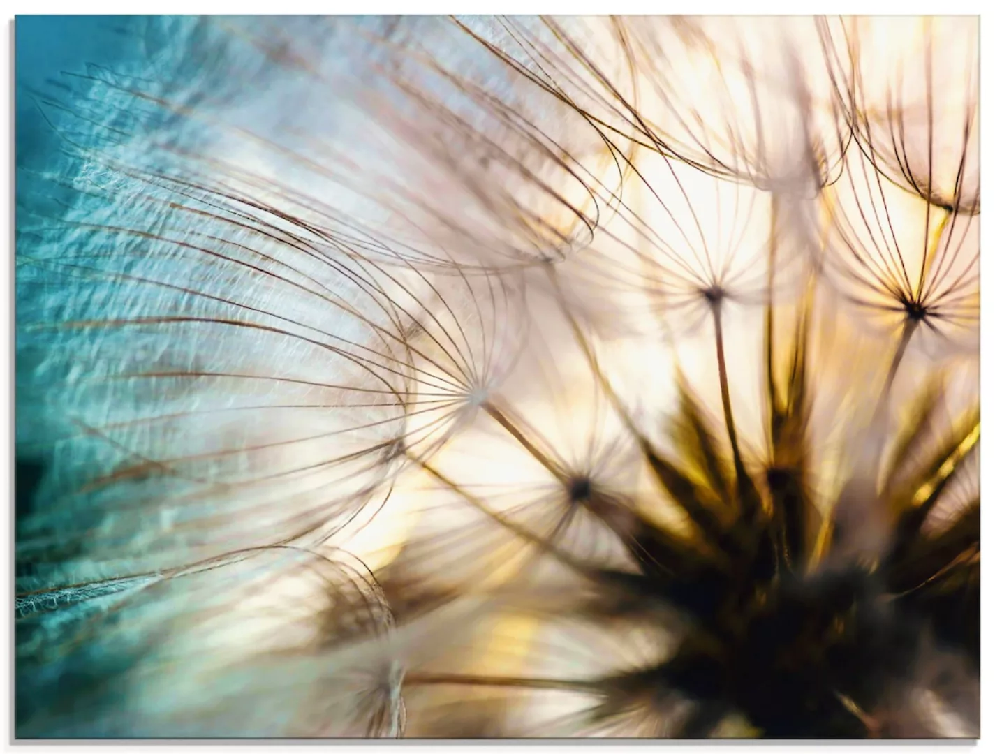
[[[980,212],[977,23],[858,17],[819,27],[840,104],[881,173],[937,207]],[[890,36],[902,44],[882,44]]]

